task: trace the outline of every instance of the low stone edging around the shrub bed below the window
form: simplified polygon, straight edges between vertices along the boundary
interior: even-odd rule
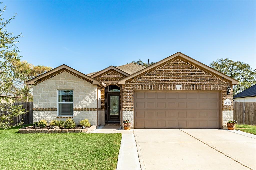
[[[33,127],[33,126],[28,126]],[[86,129],[19,129],[19,133],[91,133],[96,129],[96,126],[93,125]]]

